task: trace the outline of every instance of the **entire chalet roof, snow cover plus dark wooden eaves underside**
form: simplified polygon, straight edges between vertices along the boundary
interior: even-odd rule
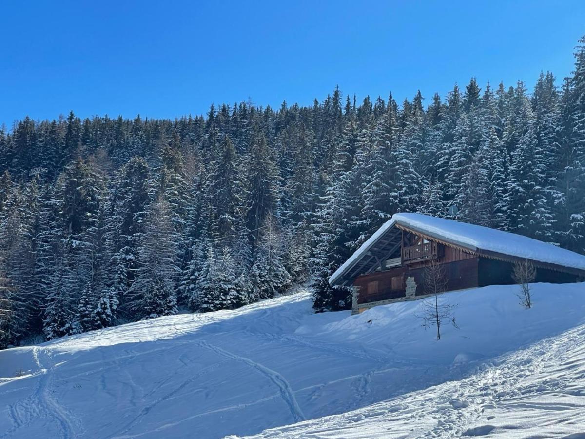
[[[395,214],[329,277],[329,284],[346,284],[350,277],[361,274],[360,269],[371,265],[371,260],[379,261],[384,252],[389,255],[395,251],[400,229],[418,232],[479,256],[504,260],[530,259],[560,271],[582,270],[585,274],[585,256],[537,239],[452,219],[422,214]]]

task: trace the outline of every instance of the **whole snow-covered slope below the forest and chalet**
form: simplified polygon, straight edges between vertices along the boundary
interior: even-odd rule
[[[315,315],[300,292],[0,351],[0,438],[584,438],[585,285],[531,310],[514,288],[443,294],[441,341],[418,301]]]

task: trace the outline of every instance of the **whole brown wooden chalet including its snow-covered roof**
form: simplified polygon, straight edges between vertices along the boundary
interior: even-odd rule
[[[487,227],[421,214],[395,214],[329,278],[353,287],[353,313],[426,296],[432,258],[445,273],[445,291],[511,284],[512,266],[531,260],[535,282],[585,280],[585,256]]]

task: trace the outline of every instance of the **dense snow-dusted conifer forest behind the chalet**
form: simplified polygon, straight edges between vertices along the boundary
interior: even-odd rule
[[[307,282],[315,311],[344,309],[328,277],[395,212],[585,252],[585,39],[534,90],[25,118],[0,131],[0,171],[0,347]]]

